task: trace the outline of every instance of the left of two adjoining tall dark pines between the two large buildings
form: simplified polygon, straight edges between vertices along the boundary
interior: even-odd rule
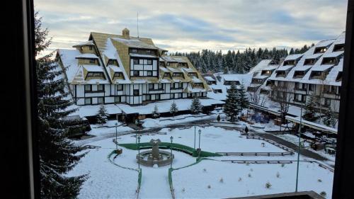
[[[232,122],[235,121],[236,116],[239,114],[239,101],[236,91],[236,86],[232,84],[230,89],[227,90],[227,98],[224,105],[224,113],[230,117]]]

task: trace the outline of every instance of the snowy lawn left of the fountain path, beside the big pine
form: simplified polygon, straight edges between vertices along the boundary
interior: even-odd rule
[[[122,169],[108,160],[108,154],[115,149],[112,139],[92,142],[99,146],[90,149],[68,176],[89,174],[79,198],[135,198],[138,172]]]

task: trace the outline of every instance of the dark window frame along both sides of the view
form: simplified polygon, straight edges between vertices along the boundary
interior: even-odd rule
[[[5,70],[9,70],[8,74],[15,76],[5,76],[5,78],[16,78],[16,83],[19,86],[6,87],[5,97],[6,99],[11,97],[8,102],[13,103],[13,106],[6,104],[5,107],[6,110],[12,110],[12,112],[8,111],[9,115],[4,120],[4,123],[12,126],[12,130],[11,133],[4,135],[6,148],[11,150],[6,151],[5,159],[3,159],[3,162],[6,163],[5,176],[3,177],[6,183],[5,193],[2,194],[11,195],[13,198],[39,198],[33,1],[9,1],[8,3],[13,4],[11,16],[9,16],[13,21],[11,21],[11,27],[8,28],[12,34],[8,34],[11,37],[8,41],[14,42],[16,46],[15,50],[10,52],[13,59],[8,60],[15,60],[15,65],[18,67],[5,68]],[[354,0],[348,0],[346,51],[344,52],[336,169],[332,194],[332,198],[343,199],[353,197],[351,186],[354,178],[352,164],[354,153],[354,144],[352,143],[354,140],[352,133],[354,118],[353,16]],[[4,20],[6,19],[4,18]]]

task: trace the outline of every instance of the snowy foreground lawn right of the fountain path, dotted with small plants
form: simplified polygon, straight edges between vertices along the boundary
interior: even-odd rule
[[[173,188],[176,198],[232,198],[293,192],[296,166],[295,163],[282,167],[281,164],[246,165],[203,160],[173,171]],[[220,182],[221,178],[223,182]],[[300,163],[299,191],[325,191],[331,198],[332,181],[331,171],[317,164]],[[268,182],[271,186],[265,188]]]

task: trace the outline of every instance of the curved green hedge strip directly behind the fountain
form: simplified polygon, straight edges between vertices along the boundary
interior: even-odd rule
[[[138,146],[135,143],[127,143],[127,144],[118,144],[120,147],[125,147],[127,149],[132,149],[132,150],[137,150]],[[142,142],[140,143],[140,149],[151,149],[152,144],[150,142]],[[171,143],[169,142],[161,142],[159,144],[160,149],[170,149],[171,148]],[[181,152],[185,152],[187,154],[190,154],[193,157],[198,157],[197,151],[193,149],[192,147],[185,146],[183,144],[178,144],[178,143],[172,143],[172,149],[178,150]],[[205,152],[201,151],[200,152],[200,157],[220,157],[222,156],[221,154],[215,154],[212,152]]]

